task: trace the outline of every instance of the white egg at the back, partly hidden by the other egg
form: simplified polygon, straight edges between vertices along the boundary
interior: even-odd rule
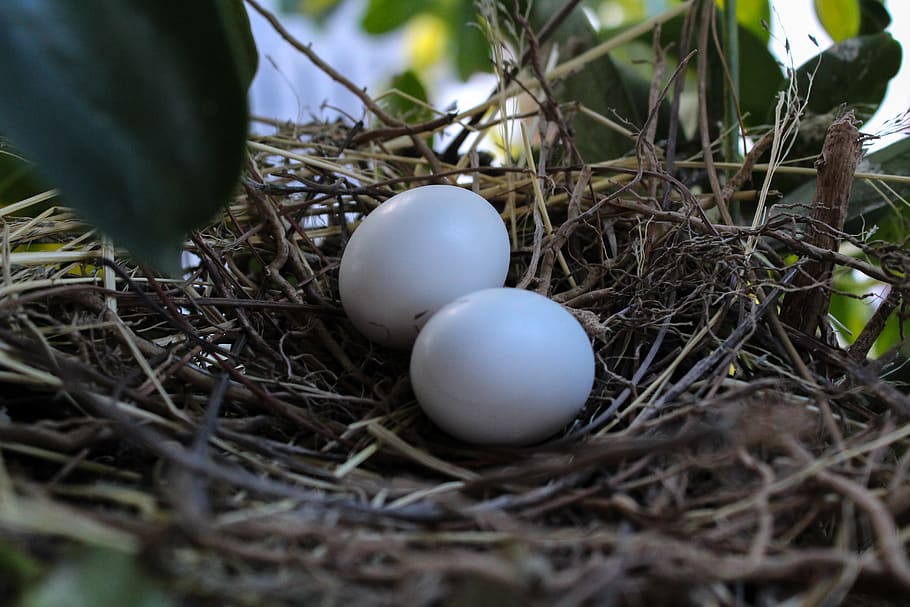
[[[501,287],[508,269],[509,235],[496,209],[470,190],[429,185],[366,216],[342,254],[338,287],[361,333],[407,347],[436,310]]]

